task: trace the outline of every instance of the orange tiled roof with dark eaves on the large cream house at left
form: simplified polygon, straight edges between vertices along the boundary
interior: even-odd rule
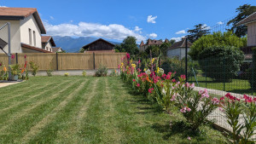
[[[46,34],[44,24],[35,8],[4,8],[0,7],[0,20],[24,20],[32,15],[38,23],[42,34]]]

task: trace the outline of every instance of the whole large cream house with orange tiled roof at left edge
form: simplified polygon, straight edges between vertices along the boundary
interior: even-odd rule
[[[7,22],[11,24],[12,53],[49,53],[42,49],[41,35],[46,31],[37,9],[0,7],[0,26]],[[8,42],[7,27],[0,30],[0,38]],[[8,52],[8,46],[4,50]]]

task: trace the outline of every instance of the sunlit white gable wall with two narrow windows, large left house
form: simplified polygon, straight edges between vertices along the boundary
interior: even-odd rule
[[[29,43],[29,32],[28,32],[29,28],[32,30],[32,44]],[[34,37],[33,32],[35,32],[36,34],[36,45],[33,38]],[[26,19],[24,20],[20,20],[20,42],[26,43],[38,48],[42,48],[41,31],[33,15],[26,17]]]

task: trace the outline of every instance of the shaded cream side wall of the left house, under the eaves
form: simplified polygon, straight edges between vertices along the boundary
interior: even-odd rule
[[[2,27],[7,22],[11,24],[11,52],[12,53],[21,53],[20,45],[20,20],[0,20],[0,27]],[[8,43],[8,26],[5,26],[0,30],[0,38]],[[3,48],[7,53],[9,52],[9,45]],[[0,53],[3,53],[3,50],[0,50]]]

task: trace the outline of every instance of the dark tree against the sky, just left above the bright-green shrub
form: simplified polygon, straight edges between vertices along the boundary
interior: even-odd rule
[[[189,30],[188,40],[191,43],[194,43],[198,38],[207,35],[209,28],[206,25],[198,24],[194,26],[195,29]]]

